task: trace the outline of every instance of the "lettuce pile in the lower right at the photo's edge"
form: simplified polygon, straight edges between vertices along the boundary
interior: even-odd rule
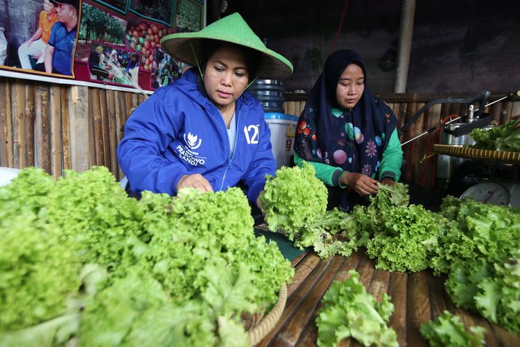
[[[441,214],[449,230],[437,239],[431,267],[447,273],[451,300],[520,334],[520,208],[448,196]]]

